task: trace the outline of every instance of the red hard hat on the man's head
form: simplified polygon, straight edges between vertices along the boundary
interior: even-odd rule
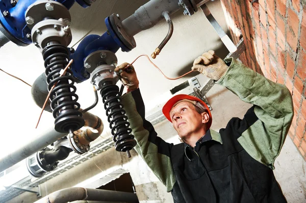
[[[207,123],[207,129],[209,129],[211,127],[212,121],[213,121],[212,113],[210,112],[209,107],[207,106],[207,104],[205,102],[203,102],[199,98],[193,97],[193,96],[190,96],[190,95],[176,95],[176,96],[172,97],[171,99],[169,99],[169,101],[167,101],[167,103],[163,107],[163,113],[164,113],[165,117],[172,123],[171,118],[170,118],[170,110],[172,109],[173,105],[176,102],[178,102],[180,100],[183,100],[183,99],[189,99],[189,100],[192,100],[192,101],[198,101],[203,106],[206,107],[207,112],[209,114],[209,121]]]

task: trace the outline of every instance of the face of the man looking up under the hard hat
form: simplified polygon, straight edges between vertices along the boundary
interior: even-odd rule
[[[170,111],[170,118],[172,121],[173,128],[176,130],[177,134],[184,139],[195,133],[202,133],[203,130],[206,131],[206,123],[208,119],[203,118],[205,113],[198,113],[195,110],[195,106],[190,102],[180,102],[176,104]],[[207,114],[208,115],[208,114]],[[204,135],[203,132],[202,135]],[[201,136],[202,136],[201,135]]]

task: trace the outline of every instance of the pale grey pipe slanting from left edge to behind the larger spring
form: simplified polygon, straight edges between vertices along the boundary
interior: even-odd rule
[[[65,133],[57,132],[54,128],[45,130],[43,134],[36,133],[34,139],[28,141],[22,147],[14,149],[14,151],[0,159],[0,171],[15,165],[63,136],[65,136]]]

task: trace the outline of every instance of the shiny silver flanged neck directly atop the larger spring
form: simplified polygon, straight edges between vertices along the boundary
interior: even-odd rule
[[[50,41],[56,41],[67,47],[72,40],[70,26],[62,18],[43,20],[37,23],[33,27],[31,35],[34,45],[41,51]]]

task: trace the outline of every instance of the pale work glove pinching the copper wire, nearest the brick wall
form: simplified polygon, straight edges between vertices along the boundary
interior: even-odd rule
[[[219,80],[227,71],[225,62],[215,55],[215,51],[208,51],[197,57],[191,70],[199,71],[210,79]]]

